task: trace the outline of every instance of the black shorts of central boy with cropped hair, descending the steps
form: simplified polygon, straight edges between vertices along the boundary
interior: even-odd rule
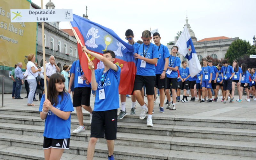
[[[155,85],[156,76],[140,76],[136,75],[134,80],[133,91],[142,89],[145,84],[146,94],[153,95],[155,93],[154,85]]]

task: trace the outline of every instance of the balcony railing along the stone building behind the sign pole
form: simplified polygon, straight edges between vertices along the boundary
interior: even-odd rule
[[[45,55],[53,55],[56,58],[61,58],[64,60],[69,60],[71,62],[74,62],[76,60],[78,60],[78,58],[76,57],[72,57],[70,55],[66,55],[64,53],[61,52],[56,52],[56,51],[52,51],[51,49],[45,49]],[[37,45],[37,52],[42,52],[43,53],[43,47],[41,45]]]

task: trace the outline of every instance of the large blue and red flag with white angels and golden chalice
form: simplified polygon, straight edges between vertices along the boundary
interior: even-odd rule
[[[116,60],[114,63],[121,68],[118,88],[119,94],[132,94],[136,74],[133,46],[124,42],[113,30],[75,14],[73,14],[73,21],[70,23],[75,29],[81,43],[86,45],[88,50],[101,55],[106,50],[115,52]],[[80,44],[77,44],[77,48],[81,68],[87,79],[91,82],[92,73],[88,66],[88,60],[80,49]],[[103,62],[90,54],[88,56],[94,63],[95,69],[104,68]]]

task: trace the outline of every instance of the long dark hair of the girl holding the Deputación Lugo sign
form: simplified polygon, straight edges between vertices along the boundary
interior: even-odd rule
[[[48,96],[48,100],[50,100],[50,102],[55,105],[57,105],[59,103],[59,98],[58,95],[61,95],[61,101],[63,100],[63,95],[68,97],[68,93],[64,87],[62,92],[57,92],[56,90],[56,83],[60,83],[60,82],[65,82],[65,77],[62,76],[59,73],[54,73],[52,74],[52,76],[50,76],[49,82],[48,82],[48,88],[47,88],[47,96]],[[61,103],[60,101],[60,103]]]

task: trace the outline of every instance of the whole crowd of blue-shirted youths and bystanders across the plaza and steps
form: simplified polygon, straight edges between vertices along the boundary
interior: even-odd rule
[[[133,94],[131,95],[130,115],[135,115],[136,101],[141,106],[139,119],[144,119],[146,114],[147,126],[152,127],[152,114],[154,113],[154,103],[159,91],[159,112],[164,113],[164,104],[168,110],[176,110],[176,102],[188,102],[189,92],[192,102],[217,102],[218,92],[221,90],[222,97],[219,101],[227,103],[234,102],[235,86],[237,87],[239,98],[237,102],[242,102],[242,94],[246,92],[247,101],[251,98],[256,100],[255,95],[255,68],[247,68],[245,64],[238,65],[236,60],[232,66],[227,60],[222,60],[217,66],[212,65],[212,60],[203,60],[202,71],[191,77],[187,61],[180,61],[177,57],[178,46],[173,46],[171,53],[168,48],[160,43],[161,36],[145,30],[142,32],[142,41],[134,41],[131,29],[125,32],[128,44],[134,47],[134,58],[137,72],[134,80]],[[153,38],[154,44],[151,43]],[[123,119],[128,115],[125,108],[127,95],[120,95],[121,109],[118,115],[119,94],[118,86],[120,81],[121,68],[113,63],[116,55],[113,51],[107,50],[103,55],[89,51],[86,46],[82,51],[91,54],[104,64],[104,68],[94,69],[90,61],[91,83],[87,80],[81,68],[80,61],[76,60],[71,66],[64,66],[61,74],[60,68],[55,64],[54,56],[51,56],[49,63],[46,62],[45,74],[47,80],[47,100],[41,94],[40,117],[45,119],[44,129],[44,156],[45,159],[60,159],[64,149],[69,148],[70,139],[70,112],[76,108],[76,115],[79,122],[78,128],[73,133],[84,132],[82,108],[90,113],[91,138],[87,149],[87,159],[91,160],[94,155],[95,145],[98,138],[105,138],[108,146],[108,159],[113,160],[114,140],[117,132],[117,119]],[[37,76],[44,75],[44,69],[35,64],[35,55],[28,55],[27,70],[24,75],[21,72],[22,63],[18,63],[12,74],[14,93],[12,97],[20,97],[21,84],[25,79],[28,84],[27,96],[28,106],[33,104],[33,98],[38,85],[43,86],[44,80],[37,81]],[[144,90],[145,88],[145,90]],[[181,98],[180,90],[183,90]],[[90,106],[91,92],[96,91],[93,109]],[[16,93],[17,92],[17,93]],[[72,98],[70,96],[72,92]],[[144,95],[147,103],[144,101]],[[40,95],[39,95],[40,96]],[[165,96],[167,98],[164,103]],[[253,97],[252,97],[253,96]],[[180,104],[181,104],[180,103]],[[74,108],[73,108],[74,107]],[[138,106],[137,106],[138,107]],[[53,124],[58,124],[57,126]],[[54,126],[54,127],[53,127]]]

